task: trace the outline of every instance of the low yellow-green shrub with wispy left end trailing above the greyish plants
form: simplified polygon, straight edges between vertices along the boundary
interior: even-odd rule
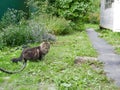
[[[71,22],[64,19],[64,18],[58,18],[51,15],[39,15],[39,17],[36,18],[38,22],[42,22],[45,24],[46,28],[48,29],[48,32],[55,34],[55,35],[65,35],[72,32],[71,28]]]

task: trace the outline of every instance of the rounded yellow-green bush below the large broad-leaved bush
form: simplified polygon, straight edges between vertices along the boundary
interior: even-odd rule
[[[65,35],[72,32],[70,23],[70,21],[67,21],[64,18],[51,17],[47,28],[49,29],[49,32],[55,35]]]

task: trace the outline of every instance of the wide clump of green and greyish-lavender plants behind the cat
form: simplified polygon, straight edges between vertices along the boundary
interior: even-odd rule
[[[4,31],[4,43],[7,46],[22,45],[32,42],[41,42],[42,35],[46,31],[44,26],[35,21],[22,23],[20,25],[11,25]]]

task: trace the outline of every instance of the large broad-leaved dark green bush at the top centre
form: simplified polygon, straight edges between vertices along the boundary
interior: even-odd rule
[[[57,14],[76,22],[87,14],[89,10],[90,0],[57,0],[55,2],[55,8],[57,8]]]

